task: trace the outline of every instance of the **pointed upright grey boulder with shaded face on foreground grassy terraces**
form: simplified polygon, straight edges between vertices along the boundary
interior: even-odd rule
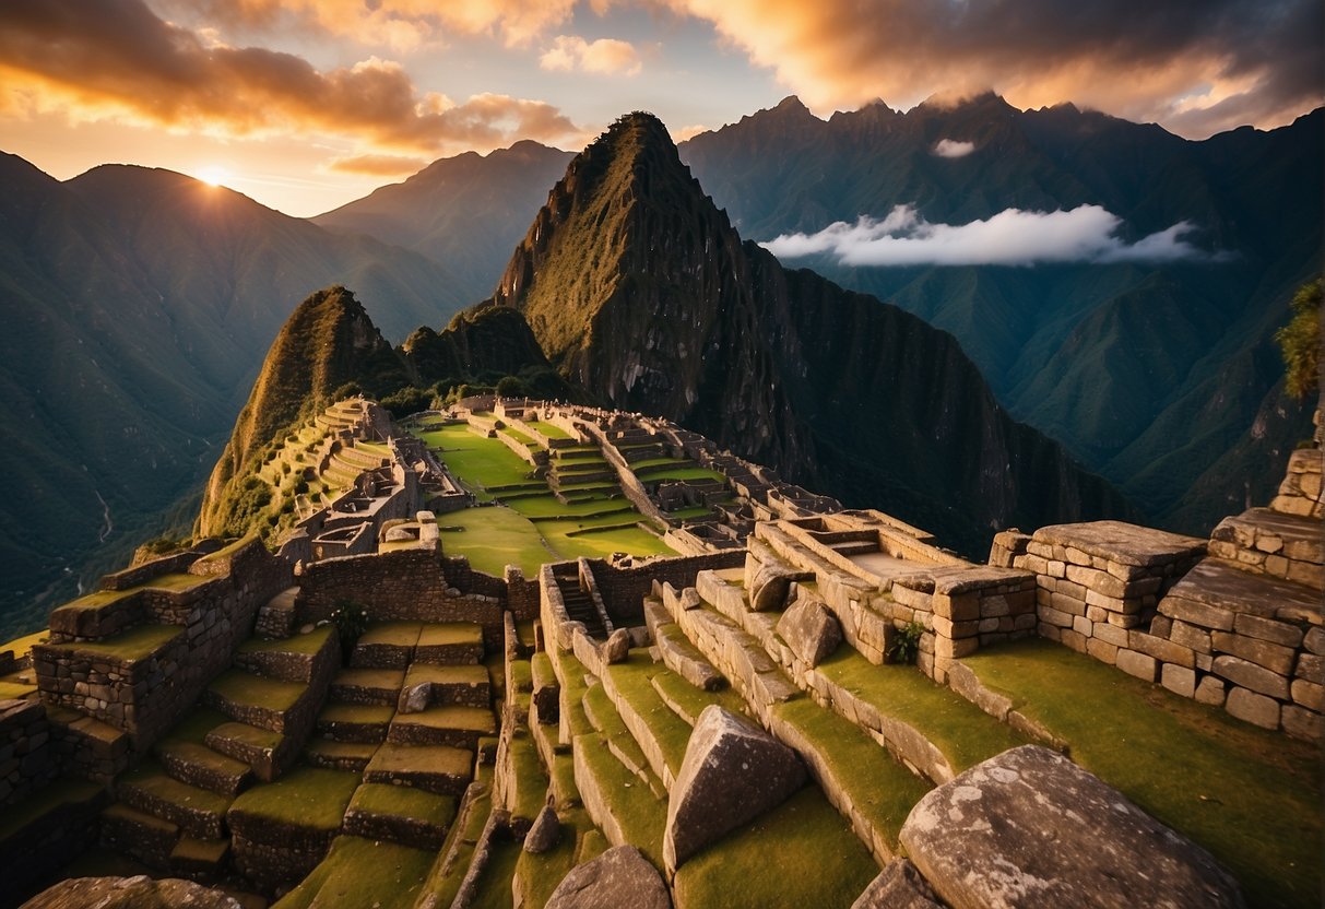
[[[770,808],[806,782],[796,753],[713,704],[704,709],[668,798],[662,861],[686,859]]]

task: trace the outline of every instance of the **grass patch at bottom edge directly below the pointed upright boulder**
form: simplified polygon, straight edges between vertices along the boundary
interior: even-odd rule
[[[776,869],[776,873],[770,871]],[[680,869],[676,904],[847,909],[878,865],[815,786],[806,786]]]

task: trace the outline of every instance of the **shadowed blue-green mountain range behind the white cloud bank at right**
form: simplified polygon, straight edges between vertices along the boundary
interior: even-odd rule
[[[943,140],[966,154],[935,154]],[[905,114],[876,103],[828,121],[788,98],[696,136],[681,156],[741,232],[761,241],[881,219],[897,205],[933,224],[1101,205],[1132,242],[1189,221],[1191,241],[1218,257],[1030,268],[788,262],[951,331],[1018,419],[1059,439],[1154,518],[1203,534],[1246,496],[1272,496],[1280,476],[1231,470],[1256,462],[1230,458],[1231,449],[1255,448],[1273,462],[1309,435],[1308,411],[1267,396],[1281,374],[1272,334],[1293,290],[1321,268],[1322,147],[1320,110],[1271,133],[1189,142],[1071,105],[1022,113],[995,95]]]

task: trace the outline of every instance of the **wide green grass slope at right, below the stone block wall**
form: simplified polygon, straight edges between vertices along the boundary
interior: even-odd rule
[[[1320,905],[1317,749],[1051,641],[962,663],[1065,739],[1073,761],[1206,847],[1251,905]]]

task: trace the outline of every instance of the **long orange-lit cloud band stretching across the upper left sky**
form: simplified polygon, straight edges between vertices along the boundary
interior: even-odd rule
[[[399,64],[375,57],[319,72],[288,53],[204,44],[142,0],[5,0],[0,72],[29,109],[72,119],[127,115],[228,135],[307,130],[425,152],[582,135],[546,102],[481,94],[456,103],[417,91]]]

